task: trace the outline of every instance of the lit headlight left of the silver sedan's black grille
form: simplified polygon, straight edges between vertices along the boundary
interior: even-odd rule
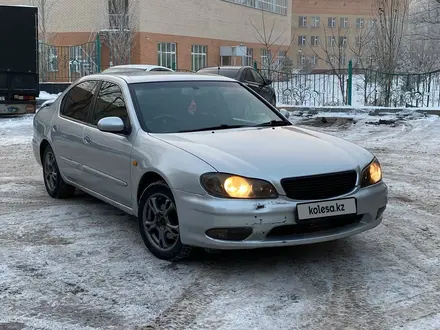
[[[237,199],[277,198],[274,186],[267,181],[226,173],[205,173],[200,182],[212,196]]]

